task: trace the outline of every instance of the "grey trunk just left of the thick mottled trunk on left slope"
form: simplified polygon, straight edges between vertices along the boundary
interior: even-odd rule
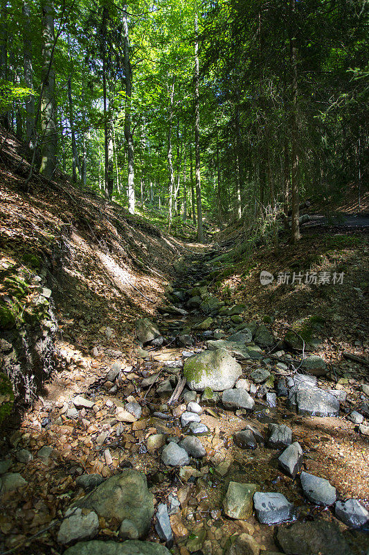
[[[23,1],[23,65],[24,82],[28,89],[33,90],[33,67],[32,67],[32,41],[30,39],[30,7],[26,0]],[[35,134],[35,96],[30,94],[26,97],[26,139],[30,148],[34,148],[33,135]]]

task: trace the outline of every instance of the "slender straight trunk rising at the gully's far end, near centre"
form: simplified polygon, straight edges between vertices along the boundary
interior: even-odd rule
[[[195,16],[195,35],[195,179],[197,200],[197,241],[199,241],[199,243],[204,243],[200,180],[199,37],[197,15]]]

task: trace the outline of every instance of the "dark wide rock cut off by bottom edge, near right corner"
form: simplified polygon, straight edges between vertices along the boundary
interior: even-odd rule
[[[352,555],[337,524],[323,519],[278,527],[277,540],[287,554]]]

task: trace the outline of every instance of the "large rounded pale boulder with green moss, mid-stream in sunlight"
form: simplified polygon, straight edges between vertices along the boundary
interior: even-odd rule
[[[186,359],[183,375],[190,389],[224,391],[234,386],[242,373],[240,364],[224,349],[206,350]]]

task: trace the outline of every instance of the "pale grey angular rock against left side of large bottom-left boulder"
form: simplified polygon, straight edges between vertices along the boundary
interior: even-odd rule
[[[66,515],[71,513],[69,518],[63,520],[57,533],[57,543],[66,545],[75,540],[87,540],[94,538],[98,533],[99,520],[94,511],[87,515],[82,514],[82,509],[69,509]]]

